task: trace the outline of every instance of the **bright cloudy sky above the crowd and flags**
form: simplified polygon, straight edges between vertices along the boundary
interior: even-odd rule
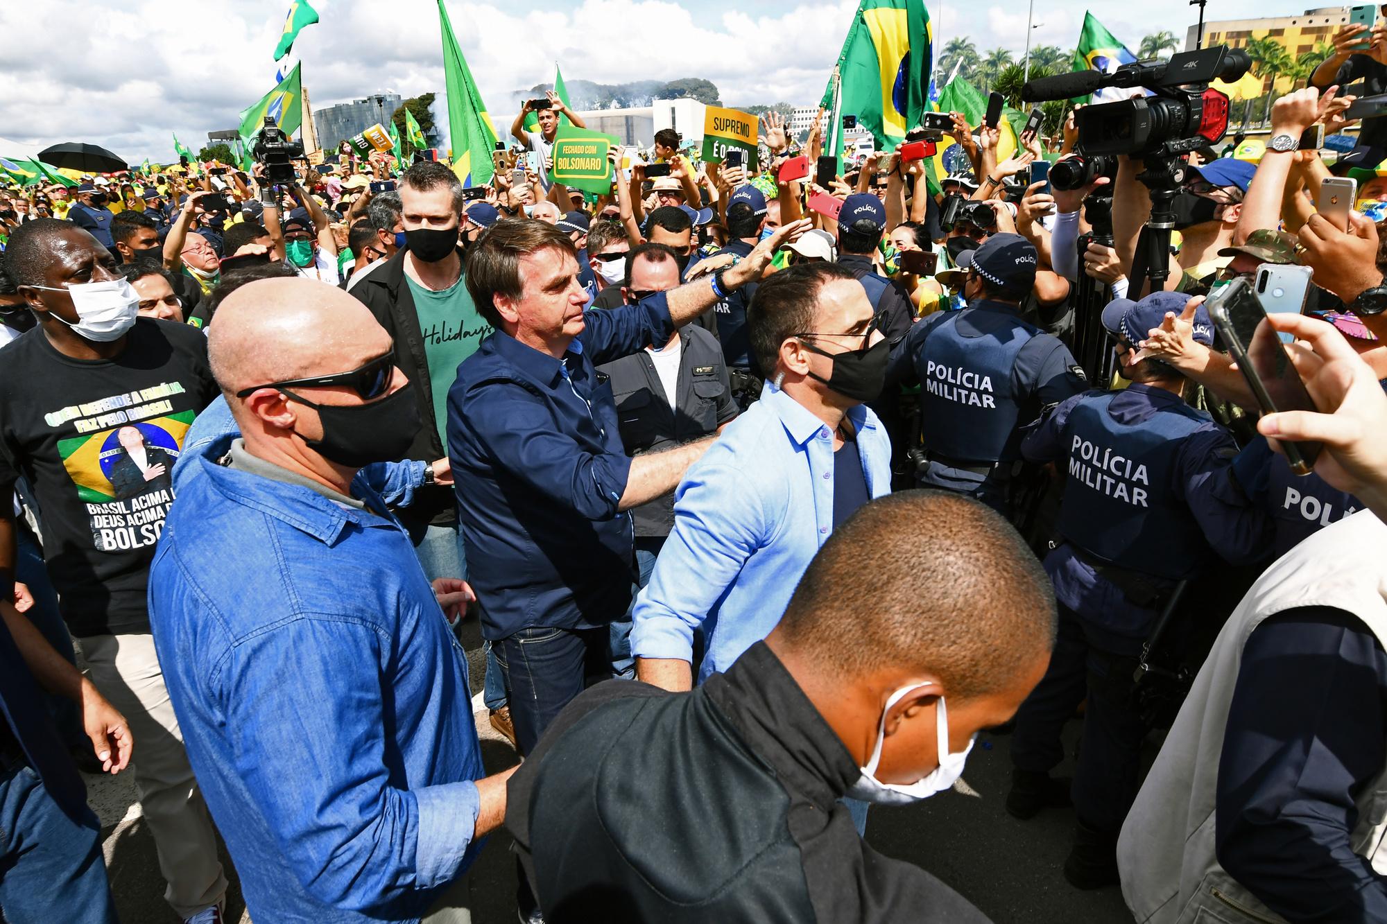
[[[313,108],[383,90],[442,89],[434,0],[315,0],[322,21],[295,43]],[[454,31],[494,115],[513,92],[552,79],[620,83],[700,76],[730,105],[817,103],[857,0],[447,0]],[[968,35],[979,51],[1018,57],[1022,0],[927,0],[936,43]],[[1311,4],[1215,0],[1209,19],[1291,15]],[[287,0],[4,0],[0,137],[36,148],[104,144],[128,162],[194,151],[207,132],[273,85]],[[1085,8],[1130,46],[1169,29],[1183,42],[1196,10],[1173,3],[1035,0],[1033,43],[1074,47]],[[940,46],[942,47],[942,46]]]

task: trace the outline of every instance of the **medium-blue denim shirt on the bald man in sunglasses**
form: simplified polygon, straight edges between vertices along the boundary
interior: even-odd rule
[[[198,459],[150,569],[189,760],[261,921],[415,921],[472,863],[462,649],[409,536]]]

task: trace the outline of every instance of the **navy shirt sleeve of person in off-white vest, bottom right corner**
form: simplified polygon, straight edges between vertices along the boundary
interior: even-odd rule
[[[1218,860],[1291,921],[1387,921],[1387,881],[1350,846],[1381,773],[1387,653],[1352,613],[1286,610],[1243,648],[1218,769]]]

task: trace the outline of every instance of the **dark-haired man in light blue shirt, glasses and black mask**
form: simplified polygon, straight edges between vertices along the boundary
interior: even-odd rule
[[[748,326],[770,380],[684,476],[635,605],[638,676],[666,690],[692,687],[699,626],[700,681],[766,638],[834,527],[890,491],[890,441],[864,405],[889,348],[861,283],[836,264],[792,266],[757,287]]]

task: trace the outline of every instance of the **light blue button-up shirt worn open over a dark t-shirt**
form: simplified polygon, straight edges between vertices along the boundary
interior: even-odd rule
[[[890,493],[890,440],[865,405],[847,412],[872,498]],[[631,651],[692,660],[705,623],[699,683],[727,670],[779,622],[795,585],[834,530],[834,434],[767,383],[689,468],[674,495],[674,530],[635,602]]]

